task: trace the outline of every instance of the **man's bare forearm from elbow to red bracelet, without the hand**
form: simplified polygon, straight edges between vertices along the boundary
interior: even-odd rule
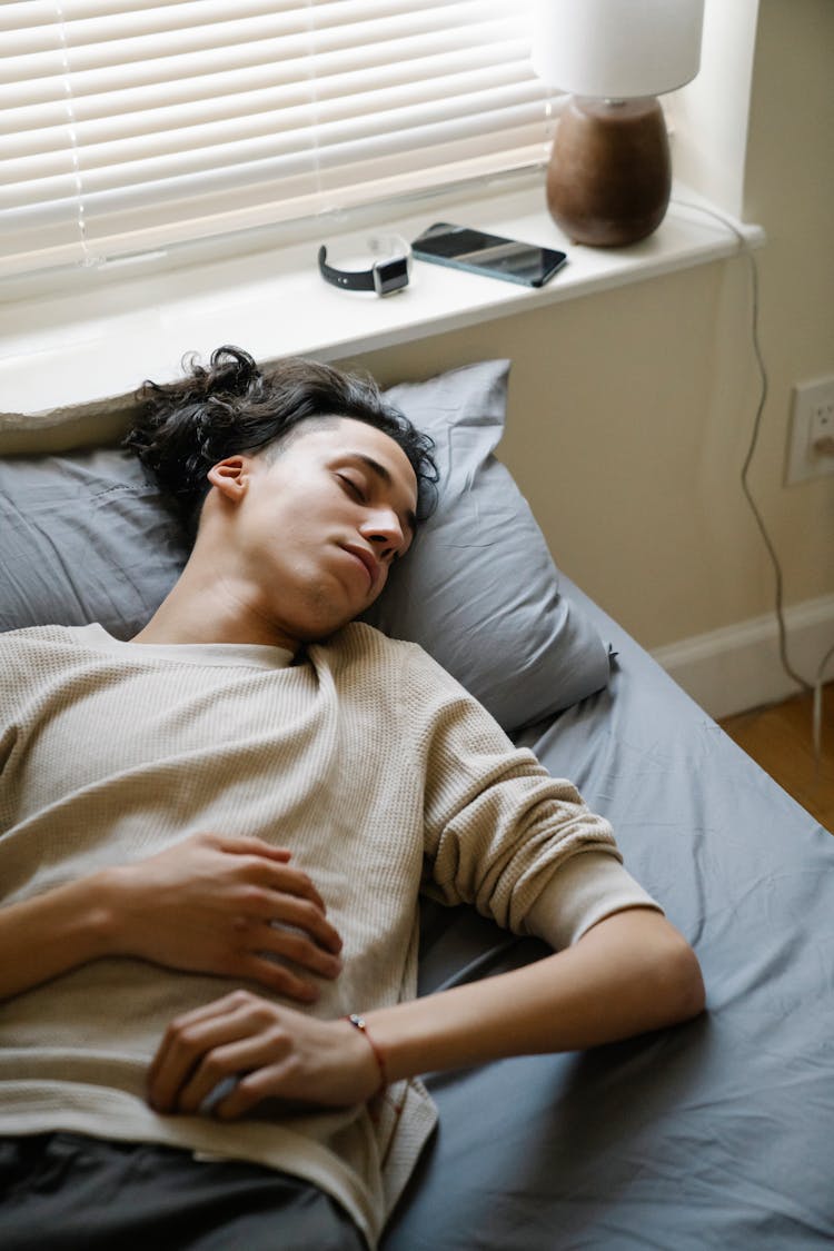
[[[704,1006],[698,961],[646,908],[619,912],[534,965],[365,1013],[388,1077],[574,1051],[658,1030]]]

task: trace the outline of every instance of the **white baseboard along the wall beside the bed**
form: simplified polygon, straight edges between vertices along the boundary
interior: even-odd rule
[[[785,609],[788,657],[806,682],[834,647],[834,595]],[[653,657],[713,717],[775,703],[798,693],[779,659],[775,613],[659,647]],[[834,678],[834,657],[825,678]]]

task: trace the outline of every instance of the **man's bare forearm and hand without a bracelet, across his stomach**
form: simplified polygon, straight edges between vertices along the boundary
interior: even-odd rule
[[[341,940],[290,853],[201,833],[0,909],[0,1000],[104,956],[245,978],[310,1003]],[[300,973],[270,957],[291,960]]]

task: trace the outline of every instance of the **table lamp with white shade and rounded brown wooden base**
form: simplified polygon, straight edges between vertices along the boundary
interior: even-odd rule
[[[660,225],[671,161],[656,99],[700,65],[704,0],[539,0],[533,68],[570,91],[548,208],[573,243],[623,246]]]

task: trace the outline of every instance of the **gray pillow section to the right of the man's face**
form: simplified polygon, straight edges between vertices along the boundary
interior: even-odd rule
[[[440,495],[366,620],[420,643],[508,732],[604,687],[608,648],[559,574],[530,508],[493,455],[509,362],[388,392],[436,445]]]

